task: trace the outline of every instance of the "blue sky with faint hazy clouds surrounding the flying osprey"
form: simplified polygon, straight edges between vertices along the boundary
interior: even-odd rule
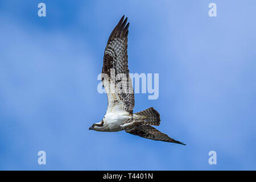
[[[38,3],[47,16],[38,16]],[[208,5],[217,5],[217,17]],[[0,1],[0,169],[255,170],[256,2]],[[157,127],[181,142],[88,131],[106,42],[128,16],[131,73],[159,73]],[[47,164],[38,165],[38,151]],[[209,165],[208,152],[217,152]]]

